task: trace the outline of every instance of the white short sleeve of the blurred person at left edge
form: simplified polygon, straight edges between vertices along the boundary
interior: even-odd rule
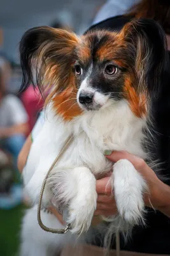
[[[22,102],[20,99],[18,99],[17,96],[8,95],[6,98],[6,104],[10,113],[11,125],[25,124],[28,122],[29,117],[27,112],[25,111]]]

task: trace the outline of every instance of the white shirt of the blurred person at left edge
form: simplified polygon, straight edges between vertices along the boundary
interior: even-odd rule
[[[20,99],[15,95],[6,95],[0,102],[0,127],[24,124],[28,121],[27,113]]]

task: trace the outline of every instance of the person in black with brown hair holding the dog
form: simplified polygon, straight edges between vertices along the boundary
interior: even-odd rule
[[[125,4],[125,8],[121,9],[121,12],[115,12],[115,7],[109,7],[110,12],[106,14],[104,10],[106,4],[110,4],[111,2],[116,3],[117,6],[122,6]],[[167,36],[167,44],[168,49],[170,51],[169,44],[169,35],[170,35],[170,3],[169,1],[161,1],[161,0],[143,0],[136,5],[134,5],[130,11],[127,11],[131,4],[136,3],[136,1],[108,1],[101,11],[98,13],[94,23],[99,22],[99,24],[95,24],[90,29],[97,29],[98,27],[103,29],[114,28],[120,30],[126,22],[134,18],[149,18],[155,19],[160,23]],[[126,11],[126,15],[122,15]],[[105,16],[102,15],[104,13]],[[113,17],[114,15],[119,15],[117,17]],[[112,16],[112,17],[111,17]],[[108,19],[110,18],[110,19]],[[103,20],[107,19],[107,20]],[[103,20],[103,21],[101,21]],[[89,29],[89,30],[90,30]],[[170,138],[170,127],[167,123],[167,114],[169,114],[169,99],[170,93],[167,95],[161,95],[159,99],[159,104],[155,105],[155,120],[157,124],[157,129],[162,134],[160,148],[161,161],[164,164],[164,173],[166,173],[167,177],[170,177],[170,168],[169,168],[169,138]],[[24,168],[27,156],[29,154],[29,150],[31,147],[32,140],[39,131],[41,131],[41,127],[43,125],[43,115],[39,118],[37,124],[32,130],[32,135],[27,138],[27,141],[22,148],[20,155],[18,157],[18,168],[22,172]],[[32,140],[31,140],[32,136]],[[148,182],[148,186],[151,193],[151,198],[153,202],[157,202],[157,205],[153,204],[155,207],[155,211],[152,209],[152,205],[149,202],[146,202],[146,207],[148,208],[148,213],[146,214],[146,227],[138,226],[134,227],[132,230],[131,239],[125,243],[124,237],[120,236],[120,248],[121,250],[132,251],[132,252],[143,252],[143,253],[164,253],[170,255],[170,182],[169,179],[166,180],[166,183],[160,181],[152,169],[150,169],[144,161],[141,161],[136,156],[132,156],[127,152],[113,152],[108,159],[113,162],[117,162],[119,159],[129,159],[134,166],[139,166],[141,164],[141,168],[139,170],[140,174],[145,177],[146,182]],[[136,168],[138,170],[138,168]],[[115,205],[115,200],[111,197],[111,186],[108,184],[109,177],[104,177],[103,179],[97,180],[96,182],[96,190],[98,194],[97,198],[97,210],[96,215],[114,215],[117,213],[117,207]],[[149,207],[148,207],[149,206]],[[56,209],[53,209],[53,214],[56,215],[57,218],[62,222],[62,216],[60,216],[59,212]],[[99,241],[96,239],[96,244],[101,246],[101,237]],[[113,248],[115,248],[115,243],[113,243]],[[90,251],[89,251],[90,252]]]

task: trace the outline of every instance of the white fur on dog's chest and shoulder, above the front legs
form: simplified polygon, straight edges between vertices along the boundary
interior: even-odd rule
[[[29,168],[27,179],[31,179],[39,162],[50,167],[71,133],[74,142],[60,160],[59,168],[87,166],[95,175],[108,172],[112,164],[104,157],[104,150],[127,150],[145,158],[141,147],[144,126],[145,120],[134,116],[125,100],[111,101],[104,109],[88,111],[71,122],[64,122],[49,107],[45,124],[31,148],[29,166],[26,166]]]

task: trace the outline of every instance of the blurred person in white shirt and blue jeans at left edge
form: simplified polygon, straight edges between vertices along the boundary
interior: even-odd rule
[[[16,164],[28,132],[28,116],[20,99],[6,93],[10,72],[8,61],[0,58],[0,143],[11,153]]]

